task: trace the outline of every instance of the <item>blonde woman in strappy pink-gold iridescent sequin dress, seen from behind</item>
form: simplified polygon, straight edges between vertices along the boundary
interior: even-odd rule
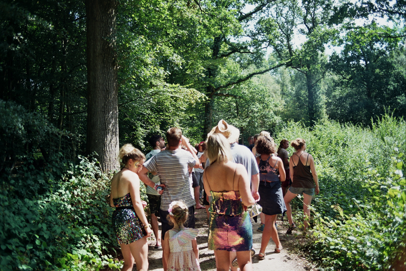
[[[204,187],[213,197],[210,204],[209,249],[214,250],[217,270],[228,270],[229,254],[235,251],[242,271],[252,270],[252,224],[247,206],[255,203],[245,167],[232,162],[230,144],[221,134],[207,139],[210,166],[203,173]]]

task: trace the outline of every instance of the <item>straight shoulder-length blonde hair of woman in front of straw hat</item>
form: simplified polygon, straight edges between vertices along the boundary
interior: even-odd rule
[[[227,139],[218,133],[214,133],[206,141],[206,157],[209,158],[210,164],[216,161],[232,161],[231,147]]]

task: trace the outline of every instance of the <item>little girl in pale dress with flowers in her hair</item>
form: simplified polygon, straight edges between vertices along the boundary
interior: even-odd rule
[[[200,271],[196,235],[198,229],[185,228],[188,208],[181,201],[173,201],[168,208],[168,221],[173,229],[165,233],[164,257],[167,271]]]

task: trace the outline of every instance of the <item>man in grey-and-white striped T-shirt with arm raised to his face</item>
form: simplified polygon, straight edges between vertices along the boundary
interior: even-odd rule
[[[168,147],[162,152],[153,156],[150,160],[144,163],[144,168],[138,173],[140,179],[145,183],[149,181],[147,173],[149,171],[156,172],[159,175],[161,184],[165,185],[161,195],[161,206],[159,216],[162,223],[161,238],[162,241],[165,232],[172,229],[169,225],[166,216],[168,213],[169,204],[172,201],[183,201],[189,208],[189,216],[185,225],[188,228],[194,228],[194,205],[196,204],[190,193],[189,171],[188,166],[198,168],[200,166],[199,159],[193,152],[193,148],[189,140],[182,135],[181,129],[173,127],[166,132],[166,141]],[[186,146],[187,150],[181,148]],[[162,242],[162,251],[164,242]],[[163,255],[162,255],[163,256]],[[164,257],[162,257],[163,266],[166,266]]]

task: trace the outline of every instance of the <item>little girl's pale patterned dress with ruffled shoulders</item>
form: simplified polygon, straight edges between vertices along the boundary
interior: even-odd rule
[[[192,240],[198,233],[198,229],[191,228],[169,231],[171,253],[167,262],[168,271],[200,271],[200,265],[192,247]]]

